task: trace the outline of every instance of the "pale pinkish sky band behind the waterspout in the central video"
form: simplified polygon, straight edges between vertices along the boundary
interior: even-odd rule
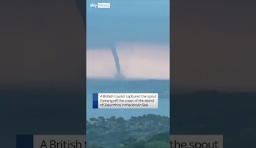
[[[121,73],[127,79],[170,79],[169,46],[119,43]],[[110,48],[87,50],[87,77],[113,79],[117,75]]]

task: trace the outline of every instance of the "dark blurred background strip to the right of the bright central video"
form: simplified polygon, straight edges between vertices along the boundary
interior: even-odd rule
[[[171,1],[171,134],[255,147],[255,1]]]

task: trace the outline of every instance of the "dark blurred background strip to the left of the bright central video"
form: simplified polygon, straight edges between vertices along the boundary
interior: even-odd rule
[[[0,143],[86,134],[86,35],[75,1],[0,2]]]

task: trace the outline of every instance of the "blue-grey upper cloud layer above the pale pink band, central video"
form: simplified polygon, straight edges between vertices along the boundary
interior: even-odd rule
[[[110,9],[90,7],[98,2],[87,3],[88,48],[106,48],[117,42],[170,42],[168,0],[110,0],[103,1],[110,3]]]

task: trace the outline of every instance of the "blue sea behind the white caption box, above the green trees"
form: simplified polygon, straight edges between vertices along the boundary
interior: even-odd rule
[[[98,118],[104,116],[141,116],[143,114],[157,114],[170,117],[170,81],[169,80],[106,80],[88,79],[86,84],[86,116]],[[158,93],[157,109],[93,109],[93,93]]]

